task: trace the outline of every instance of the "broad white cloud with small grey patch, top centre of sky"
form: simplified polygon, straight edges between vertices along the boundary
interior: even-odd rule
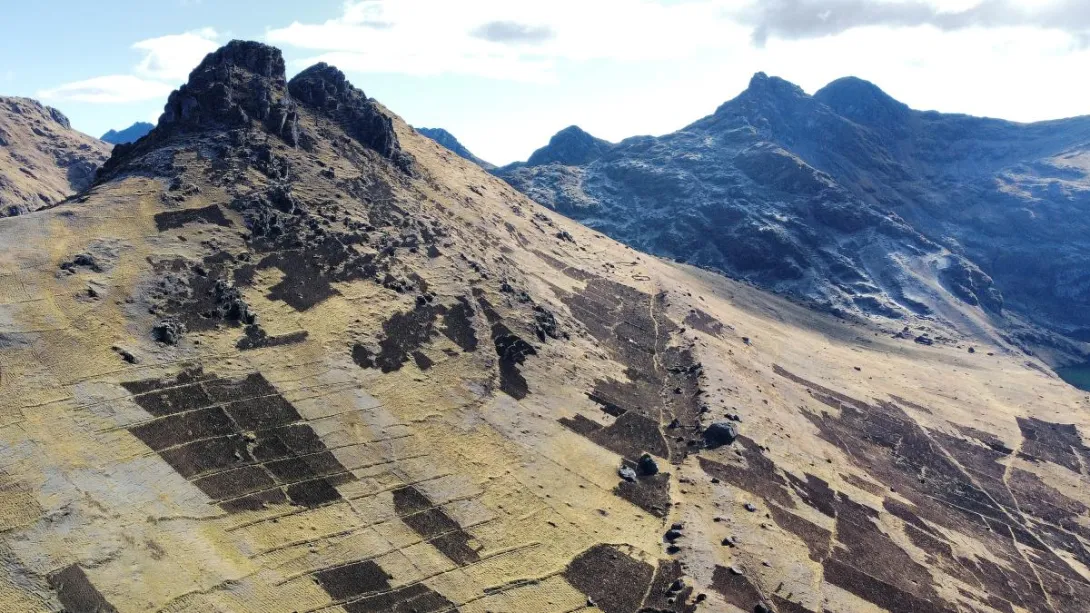
[[[547,81],[560,60],[669,60],[723,48],[748,31],[726,20],[743,0],[353,0],[319,24],[270,29],[312,51],[296,64],[415,75]]]

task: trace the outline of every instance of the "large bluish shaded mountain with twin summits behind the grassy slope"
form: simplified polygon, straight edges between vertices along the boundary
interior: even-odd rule
[[[922,112],[858,79],[810,96],[759,73],[676,133],[497,173],[637,249],[834,312],[1005,317],[1070,349],[1022,324],[1090,340],[1088,145],[1090,118]]]

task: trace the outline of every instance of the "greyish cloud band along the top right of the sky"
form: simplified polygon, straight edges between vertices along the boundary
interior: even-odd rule
[[[970,27],[1039,27],[1073,35],[1085,43],[1090,34],[1087,0],[766,0],[740,11],[753,26],[753,41],[833,36],[865,26],[933,26],[942,31]]]

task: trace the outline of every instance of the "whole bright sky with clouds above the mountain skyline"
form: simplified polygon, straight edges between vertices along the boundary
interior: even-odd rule
[[[844,75],[916,108],[1090,113],[1085,0],[52,0],[3,8],[0,94],[100,135],[154,121],[231,38],[318,60],[494,163],[577,123],[617,141],[712,112],[764,71]]]

